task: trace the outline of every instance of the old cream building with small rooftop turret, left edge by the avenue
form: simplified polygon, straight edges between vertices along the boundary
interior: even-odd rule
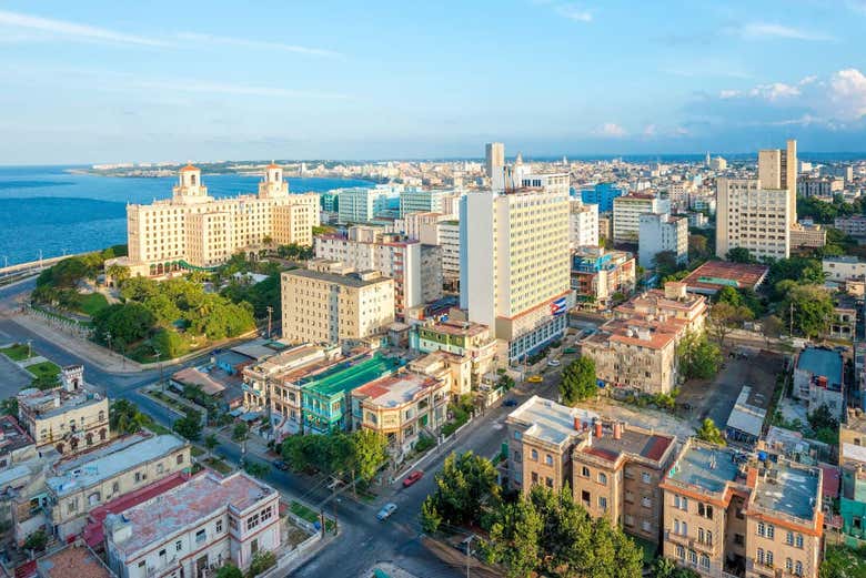
[[[70,365],[61,369],[60,386],[18,394],[18,423],[38,450],[53,446],[59,454],[74,454],[109,439],[109,403],[87,388],[82,365]]]

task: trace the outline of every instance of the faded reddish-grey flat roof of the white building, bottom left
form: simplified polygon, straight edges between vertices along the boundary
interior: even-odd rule
[[[154,541],[162,542],[226,506],[242,513],[275,494],[271,486],[243,471],[221,478],[205,470],[185,484],[124,510],[122,517],[132,526],[132,535],[115,546],[130,555]]]

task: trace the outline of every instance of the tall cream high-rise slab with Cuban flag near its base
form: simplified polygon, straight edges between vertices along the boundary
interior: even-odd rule
[[[524,357],[566,328],[567,175],[564,183],[536,180],[551,184],[461,201],[460,305],[470,321],[494,328],[503,359]]]

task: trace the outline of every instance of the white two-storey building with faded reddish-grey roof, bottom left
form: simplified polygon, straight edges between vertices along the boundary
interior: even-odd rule
[[[203,578],[245,570],[280,547],[280,495],[244,471],[204,470],[104,521],[108,566],[120,578]]]

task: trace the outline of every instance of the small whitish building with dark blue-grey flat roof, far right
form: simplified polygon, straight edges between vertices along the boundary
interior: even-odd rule
[[[844,363],[839,352],[806,347],[794,366],[794,396],[806,403],[809,414],[826,405],[830,415],[845,416]]]

